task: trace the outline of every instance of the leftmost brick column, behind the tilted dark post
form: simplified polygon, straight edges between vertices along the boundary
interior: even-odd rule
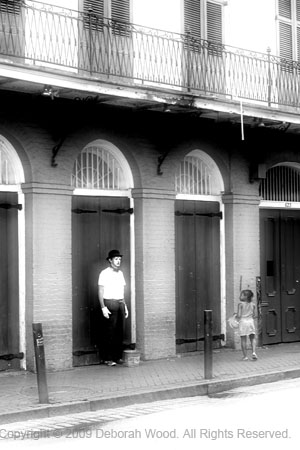
[[[26,353],[35,370],[32,323],[43,325],[47,370],[72,367],[72,259],[69,186],[22,186],[26,220]]]

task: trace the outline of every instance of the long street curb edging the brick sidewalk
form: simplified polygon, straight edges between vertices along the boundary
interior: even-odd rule
[[[263,383],[273,383],[287,379],[300,378],[300,368],[285,371],[274,371],[258,375],[247,375],[227,380],[203,380],[189,385],[173,386],[167,389],[151,389],[136,394],[101,397],[80,402],[68,402],[53,405],[41,405],[23,411],[0,414],[0,425],[27,420],[46,419],[55,416],[92,412],[99,409],[119,408],[123,406],[151,403],[184,397],[213,395],[242,386],[254,386]]]

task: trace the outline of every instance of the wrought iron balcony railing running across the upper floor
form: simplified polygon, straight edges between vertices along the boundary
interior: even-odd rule
[[[27,0],[0,0],[0,64],[194,95],[299,107],[300,65]]]

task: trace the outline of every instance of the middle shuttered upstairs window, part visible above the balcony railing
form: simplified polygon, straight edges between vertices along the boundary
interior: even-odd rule
[[[223,2],[184,0],[184,33],[195,39],[223,43]]]

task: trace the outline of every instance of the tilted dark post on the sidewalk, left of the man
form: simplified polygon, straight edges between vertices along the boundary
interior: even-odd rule
[[[35,364],[37,372],[39,402],[49,403],[42,324],[33,323],[32,331],[33,331],[33,343],[34,343]]]

